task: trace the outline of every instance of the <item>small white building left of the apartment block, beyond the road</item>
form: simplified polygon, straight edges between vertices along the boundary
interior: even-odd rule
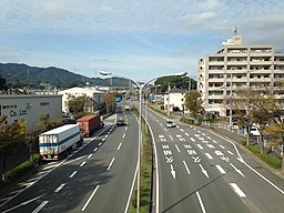
[[[174,88],[164,94],[164,110],[172,112],[174,108],[183,110],[186,90]]]

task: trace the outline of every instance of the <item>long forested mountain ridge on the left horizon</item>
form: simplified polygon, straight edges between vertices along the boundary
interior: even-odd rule
[[[109,87],[128,87],[129,80],[122,78],[88,78],[81,74],[75,74],[64,69],[54,67],[38,68],[29,67],[23,63],[0,63],[0,75],[7,80],[9,88],[31,87],[39,88],[45,83],[57,88],[72,88],[83,85],[87,82],[93,85]]]

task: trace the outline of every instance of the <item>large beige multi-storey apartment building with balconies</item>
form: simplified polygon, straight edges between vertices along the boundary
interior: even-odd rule
[[[274,87],[284,78],[284,53],[273,44],[242,44],[234,34],[215,54],[197,61],[197,91],[205,111],[230,114],[230,100],[237,88]]]

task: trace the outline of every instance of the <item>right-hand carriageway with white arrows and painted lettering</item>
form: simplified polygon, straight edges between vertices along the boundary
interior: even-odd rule
[[[158,155],[156,212],[284,211],[284,181],[211,131],[148,111]]]

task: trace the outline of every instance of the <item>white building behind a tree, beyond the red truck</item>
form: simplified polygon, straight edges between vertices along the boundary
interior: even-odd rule
[[[62,110],[65,113],[69,113],[68,106],[68,98],[70,95],[81,97],[87,95],[90,97],[94,102],[94,108],[88,109],[89,112],[93,113],[100,108],[102,108],[104,100],[103,100],[103,92],[99,91],[97,88],[85,87],[85,88],[71,88],[68,90],[59,91],[58,94],[62,95]]]

